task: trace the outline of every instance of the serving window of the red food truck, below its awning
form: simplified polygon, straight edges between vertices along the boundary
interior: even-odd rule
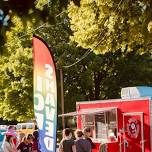
[[[104,142],[117,140],[117,109],[82,115],[83,127],[90,127],[93,138]]]

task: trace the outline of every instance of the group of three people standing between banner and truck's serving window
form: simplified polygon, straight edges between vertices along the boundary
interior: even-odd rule
[[[75,140],[72,138],[72,130],[66,128],[63,130],[63,138],[59,144],[59,152],[92,152],[95,144],[92,142],[91,129],[86,127],[75,131]]]

